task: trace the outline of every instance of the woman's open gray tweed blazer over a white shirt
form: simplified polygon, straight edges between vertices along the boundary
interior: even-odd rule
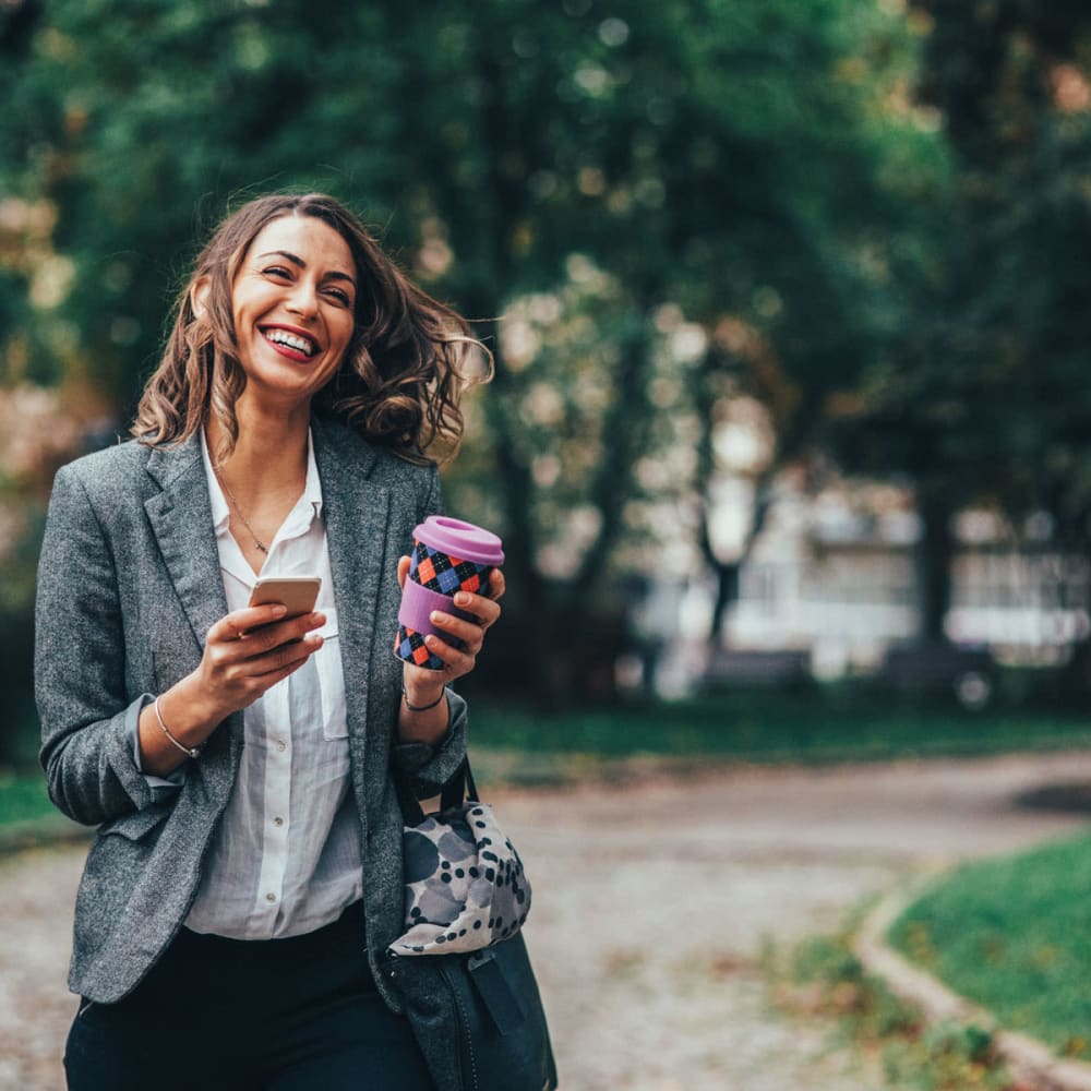
[[[397,559],[440,507],[433,467],[312,421],[337,601],[352,789],[360,814],[367,942],[387,1004],[385,951],[403,931],[401,817],[392,759],[434,794],[465,754],[465,703],[436,748],[396,744],[401,664],[394,657]],[[69,985],[112,1003],[175,937],[227,804],[242,714],[213,733],[185,782],[154,799],[127,738],[145,694],[194,670],[227,612],[200,440],[175,449],[129,442],[63,467],[38,567],[35,688],[52,801],[99,826],[76,897]]]

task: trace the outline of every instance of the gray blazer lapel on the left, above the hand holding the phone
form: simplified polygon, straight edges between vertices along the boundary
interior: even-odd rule
[[[147,471],[163,491],[146,501],[144,509],[193,635],[204,648],[208,630],[227,613],[227,596],[219,578],[201,437],[193,435],[175,449],[154,447]]]

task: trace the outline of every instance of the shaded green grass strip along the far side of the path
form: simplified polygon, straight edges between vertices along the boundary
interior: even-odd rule
[[[878,760],[1091,746],[1091,720],[1038,711],[975,715],[851,690],[736,691],[558,714],[471,702],[473,744],[542,754]]]

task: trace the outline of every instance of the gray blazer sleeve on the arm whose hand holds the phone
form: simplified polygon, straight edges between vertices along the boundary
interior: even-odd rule
[[[131,745],[147,695],[127,692],[117,565],[71,466],[57,475],[46,518],[34,673],[40,762],[53,803],[85,825],[151,805],[155,793]]]

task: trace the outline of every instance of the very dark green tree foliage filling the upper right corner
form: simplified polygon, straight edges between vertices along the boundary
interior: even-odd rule
[[[952,157],[908,280],[912,325],[864,374],[843,453],[900,471],[948,512],[1043,508],[1086,548],[1082,380],[1091,241],[1091,16],[1078,3],[916,0],[918,93]]]

